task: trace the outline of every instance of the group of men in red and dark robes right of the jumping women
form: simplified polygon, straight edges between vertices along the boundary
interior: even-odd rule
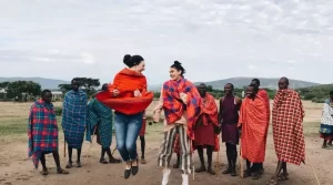
[[[271,120],[269,94],[260,89],[260,81],[253,79],[242,101],[234,95],[231,83],[224,86],[224,96],[220,99],[220,111],[214,97],[206,92],[206,85],[198,88],[203,100],[202,112],[194,127],[194,150],[198,150],[201,166],[195,172],[209,172],[212,168],[212,152],[219,151],[219,134],[226,146],[228,168],[223,174],[236,176],[236,145],[241,138],[241,157],[246,161],[244,177],[259,179],[263,173],[265,147]],[[286,163],[300,165],[305,160],[305,143],[302,122],[304,110],[297,92],[289,89],[289,80],[281,78],[272,111],[273,138],[278,155],[278,167],[269,185],[289,179]],[[176,145],[175,145],[176,147]],[[204,165],[203,148],[206,148],[208,167]],[[175,148],[176,151],[176,148]],[[283,172],[282,172],[283,171]]]

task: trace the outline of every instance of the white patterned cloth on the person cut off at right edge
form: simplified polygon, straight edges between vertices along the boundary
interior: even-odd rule
[[[324,103],[320,133],[333,135],[333,101],[331,99],[327,99]]]

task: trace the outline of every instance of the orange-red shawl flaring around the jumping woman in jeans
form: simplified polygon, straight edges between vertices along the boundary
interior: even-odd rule
[[[120,94],[114,97],[113,90]],[[134,97],[134,91],[142,94]],[[147,79],[142,73],[137,73],[129,69],[123,69],[113,79],[113,84],[109,85],[109,92],[99,93],[97,100],[123,114],[137,114],[144,111],[153,100],[153,93],[147,92]]]

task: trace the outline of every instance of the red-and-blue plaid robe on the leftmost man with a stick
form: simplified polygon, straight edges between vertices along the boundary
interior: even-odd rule
[[[58,124],[52,103],[39,100],[31,106],[28,136],[28,155],[38,168],[42,152],[58,151]]]

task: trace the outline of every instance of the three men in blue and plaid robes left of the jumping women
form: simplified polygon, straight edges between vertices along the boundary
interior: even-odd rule
[[[72,90],[64,95],[62,109],[62,129],[64,142],[68,144],[69,161],[65,168],[73,167],[72,151],[77,150],[75,166],[81,167],[81,152],[84,141],[91,141],[91,136],[97,134],[97,142],[101,145],[100,163],[121,163],[111,154],[112,141],[112,110],[95,99],[89,102],[85,92],[80,90],[77,79],[71,81]],[[104,84],[102,91],[108,91]],[[32,157],[34,167],[38,168],[39,162],[42,164],[42,175],[48,175],[44,154],[53,153],[59,174],[68,174],[60,166],[58,124],[53,104],[51,103],[52,93],[44,90],[41,99],[37,101],[30,110],[28,136],[29,136],[29,157]],[[105,153],[109,161],[104,160]]]

